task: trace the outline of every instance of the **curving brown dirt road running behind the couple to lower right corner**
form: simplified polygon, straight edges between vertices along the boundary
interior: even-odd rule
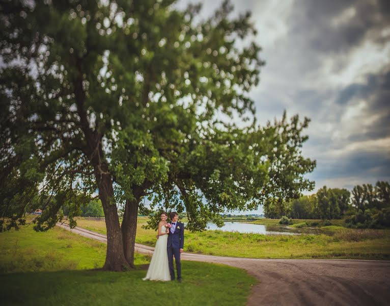
[[[70,230],[107,242],[106,236],[85,228]],[[154,248],[135,244],[135,251]],[[390,262],[371,260],[249,259],[182,253],[183,260],[226,264],[248,271],[260,283],[252,288],[247,305],[389,305]]]

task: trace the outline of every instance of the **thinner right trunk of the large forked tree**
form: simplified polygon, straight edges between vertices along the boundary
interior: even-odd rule
[[[137,232],[137,214],[140,198],[126,200],[125,213],[122,220],[122,240],[126,261],[134,267],[135,234]]]

